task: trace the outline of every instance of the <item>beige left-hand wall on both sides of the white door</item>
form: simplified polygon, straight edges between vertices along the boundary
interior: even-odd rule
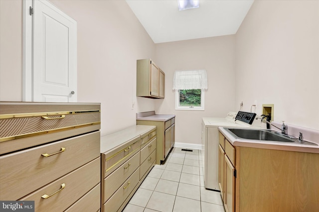
[[[136,112],[154,110],[154,101],[136,97],[136,60],[154,58],[155,44],[126,1],[51,2],[77,21],[78,102],[102,104],[102,135],[136,124]],[[0,6],[0,101],[21,101],[22,1]]]

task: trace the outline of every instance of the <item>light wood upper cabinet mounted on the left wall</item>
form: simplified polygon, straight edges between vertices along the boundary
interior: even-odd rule
[[[151,60],[137,60],[136,96],[164,99],[165,73]]]

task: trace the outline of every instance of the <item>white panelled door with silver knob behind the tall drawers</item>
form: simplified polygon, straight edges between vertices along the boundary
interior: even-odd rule
[[[33,102],[77,102],[76,21],[47,0],[33,1]]]

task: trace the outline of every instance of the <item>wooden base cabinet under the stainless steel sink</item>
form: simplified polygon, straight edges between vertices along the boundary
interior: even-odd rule
[[[226,212],[318,211],[319,153],[232,146],[222,133],[219,138]]]

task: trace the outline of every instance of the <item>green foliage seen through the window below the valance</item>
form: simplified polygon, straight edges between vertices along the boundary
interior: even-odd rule
[[[200,106],[201,89],[178,91],[179,106]]]

